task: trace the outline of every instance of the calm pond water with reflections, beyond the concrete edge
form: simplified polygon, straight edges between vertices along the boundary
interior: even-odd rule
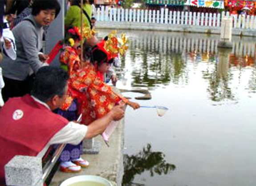
[[[127,109],[123,185],[255,186],[256,38],[218,50],[219,35],[125,32],[117,87],[149,89],[136,101],[169,110]]]

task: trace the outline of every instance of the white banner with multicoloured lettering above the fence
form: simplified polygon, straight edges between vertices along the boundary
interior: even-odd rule
[[[185,5],[219,9],[224,8],[224,2],[222,0],[187,0]]]

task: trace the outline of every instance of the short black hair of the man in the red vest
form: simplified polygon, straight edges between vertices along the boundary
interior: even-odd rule
[[[68,73],[60,67],[41,67],[37,71],[31,95],[43,102],[50,101],[55,95],[63,97],[68,79]]]

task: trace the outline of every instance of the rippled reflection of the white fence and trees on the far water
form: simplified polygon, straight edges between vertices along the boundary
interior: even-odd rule
[[[256,43],[253,39],[243,41],[236,38],[232,50],[219,51],[218,36],[167,36],[166,33],[130,36],[128,54],[122,58],[121,74],[127,69],[125,61],[129,58],[132,87],[156,89],[170,83],[187,85],[190,72],[200,73],[198,70],[202,69],[202,78],[208,82],[207,92],[212,101],[237,99],[237,87],[231,85],[233,72],[246,67],[255,70]],[[248,73],[253,77],[253,72]],[[254,82],[252,78],[247,87],[251,92],[256,89]]]

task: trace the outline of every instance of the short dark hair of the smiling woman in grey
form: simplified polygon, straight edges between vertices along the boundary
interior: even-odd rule
[[[38,15],[42,10],[55,10],[55,18],[61,11],[61,5],[58,0],[35,0],[32,5],[32,15]]]

